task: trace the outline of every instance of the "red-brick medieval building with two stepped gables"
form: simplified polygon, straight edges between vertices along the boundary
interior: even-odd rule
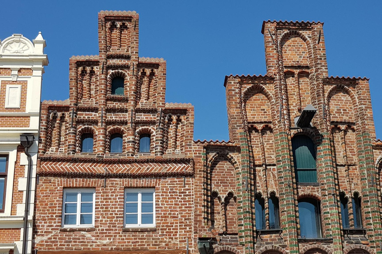
[[[42,104],[35,250],[382,253],[368,79],[328,76],[322,26],[264,22],[267,74],[225,78],[229,141],[193,141],[138,14],[101,11],[99,55]]]

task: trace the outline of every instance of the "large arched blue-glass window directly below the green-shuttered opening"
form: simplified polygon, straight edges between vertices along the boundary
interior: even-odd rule
[[[301,238],[321,238],[320,202],[313,198],[298,200]]]

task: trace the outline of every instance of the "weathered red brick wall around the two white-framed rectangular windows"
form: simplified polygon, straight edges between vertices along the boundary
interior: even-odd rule
[[[36,195],[35,248],[42,251],[150,251],[186,253],[192,234],[193,180],[41,176]],[[95,188],[95,227],[62,228],[63,190]],[[124,190],[154,188],[155,229],[123,225]],[[49,236],[49,237],[47,237]],[[191,244],[191,238],[189,238]],[[162,252],[161,252],[162,251]]]

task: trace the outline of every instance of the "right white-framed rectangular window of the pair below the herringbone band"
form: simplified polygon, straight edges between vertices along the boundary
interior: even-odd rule
[[[125,227],[155,227],[154,189],[125,189],[124,204]]]

